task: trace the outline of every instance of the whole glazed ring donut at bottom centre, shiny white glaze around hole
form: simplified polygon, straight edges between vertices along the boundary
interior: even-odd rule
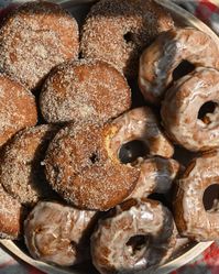
[[[172,213],[158,201],[124,201],[99,220],[90,242],[92,263],[101,274],[154,268],[172,254],[175,231]]]

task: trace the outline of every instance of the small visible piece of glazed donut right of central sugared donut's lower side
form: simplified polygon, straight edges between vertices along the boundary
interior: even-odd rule
[[[128,199],[147,197],[152,193],[169,193],[179,167],[179,163],[173,158],[156,156],[144,160],[139,180]]]

